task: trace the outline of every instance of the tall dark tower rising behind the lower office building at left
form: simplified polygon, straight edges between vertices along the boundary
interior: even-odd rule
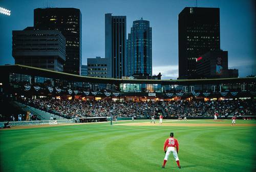
[[[82,65],[82,15],[76,8],[37,8],[34,27],[39,30],[58,30],[66,38],[64,71],[80,75]]]

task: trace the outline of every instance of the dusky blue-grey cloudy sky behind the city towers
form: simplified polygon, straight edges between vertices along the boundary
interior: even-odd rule
[[[0,14],[0,65],[14,64],[12,30],[33,26],[33,10],[72,7],[82,13],[82,64],[87,58],[104,57],[104,14],[125,15],[127,34],[132,22],[143,17],[150,21],[153,45],[153,75],[162,79],[178,77],[178,14],[185,7],[195,7],[192,0],[86,0],[86,1],[14,1],[0,0],[0,7],[11,16]],[[256,75],[256,9],[253,0],[198,0],[198,7],[220,8],[221,49],[228,51],[229,68],[239,69],[239,77]]]

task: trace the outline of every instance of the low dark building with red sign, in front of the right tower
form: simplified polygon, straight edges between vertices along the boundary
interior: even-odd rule
[[[198,78],[237,78],[238,69],[228,69],[228,52],[208,52],[196,60]]]

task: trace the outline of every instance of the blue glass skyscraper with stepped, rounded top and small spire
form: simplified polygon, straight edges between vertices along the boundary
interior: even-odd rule
[[[127,40],[127,75],[152,76],[152,28],[150,21],[133,21]]]

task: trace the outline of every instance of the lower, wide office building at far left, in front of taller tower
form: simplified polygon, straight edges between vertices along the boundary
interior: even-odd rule
[[[63,71],[66,61],[65,37],[55,30],[12,31],[12,56],[15,64]]]

